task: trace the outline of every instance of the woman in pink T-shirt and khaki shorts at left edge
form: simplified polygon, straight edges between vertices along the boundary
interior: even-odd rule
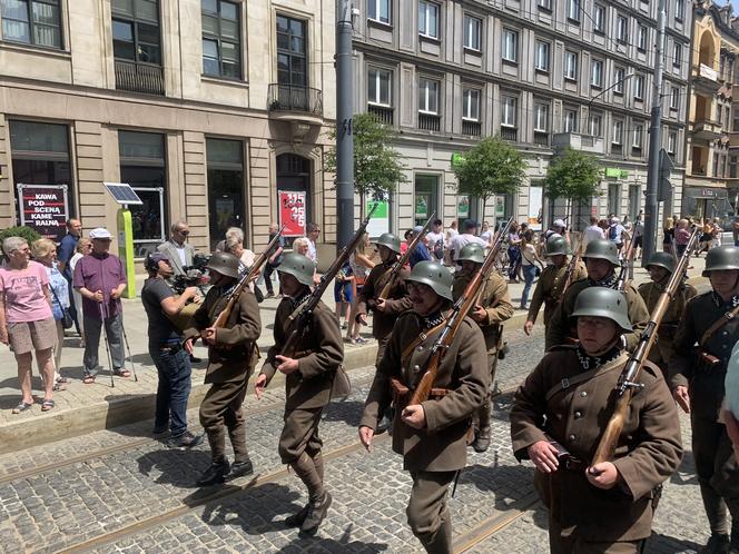
[[[28,243],[20,237],[2,241],[8,264],[0,267],[0,343],[9,345],[18,364],[18,380],[23,395],[13,414],[33,406],[31,394],[32,352],[43,378],[41,410],[53,408],[52,347],[57,339],[51,313],[51,293],[46,268],[30,260]]]

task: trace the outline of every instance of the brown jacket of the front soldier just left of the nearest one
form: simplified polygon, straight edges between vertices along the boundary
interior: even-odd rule
[[[413,390],[423,376],[423,367],[440,332],[420,343],[404,364],[401,360],[405,348],[425,330],[422,321],[415,311],[398,317],[385,356],[377,366],[361,426],[377,428],[377,422],[392,399],[391,377]],[[395,412],[393,451],[403,455],[405,469],[451,472],[466,465],[470,418],[485,397],[487,380],[482,332],[472,319],[465,318],[442,358],[434,382],[434,387],[450,389],[450,393],[443,398],[423,403],[426,427],[414,429],[401,421],[400,410]]]

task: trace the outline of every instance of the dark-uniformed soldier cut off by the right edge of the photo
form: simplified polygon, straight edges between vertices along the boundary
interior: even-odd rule
[[[739,340],[739,248],[719,246],[709,250],[703,277],[709,278],[712,290],[688,301],[674,335],[668,372],[676,400],[690,413],[696,473],[711,527],[702,552],[736,554],[739,465],[718,413],[731,348]]]

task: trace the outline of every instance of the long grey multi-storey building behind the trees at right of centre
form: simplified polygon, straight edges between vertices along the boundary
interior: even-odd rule
[[[515,216],[544,225],[563,210],[542,180],[561,148],[602,160],[602,195],[577,210],[635,218],[647,186],[657,1],[361,0],[355,20],[357,111],[398,131],[407,182],[388,227],[436,211],[446,224]],[[684,175],[692,6],[667,0],[662,147],[674,164],[664,211],[680,206]],[[528,161],[516,195],[481,202],[457,190],[452,156],[500,135]],[[491,202],[493,204],[493,202]]]

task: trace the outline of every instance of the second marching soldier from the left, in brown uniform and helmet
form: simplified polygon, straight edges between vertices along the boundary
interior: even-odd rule
[[[313,285],[315,264],[305,256],[287,254],[277,268],[285,298],[275,315],[275,345],[257,377],[257,398],[276,372],[285,374],[285,426],[279,437],[279,457],[289,465],[308,489],[308,504],[285,523],[314,535],[326,517],[331,494],[324,487],[323,442],[318,424],[331,399],[336,369],[344,359],[342,332],[334,313],[318,303],[307,324],[298,330],[294,357],[282,355],[292,334],[295,317]],[[287,353],[286,353],[287,354]]]

